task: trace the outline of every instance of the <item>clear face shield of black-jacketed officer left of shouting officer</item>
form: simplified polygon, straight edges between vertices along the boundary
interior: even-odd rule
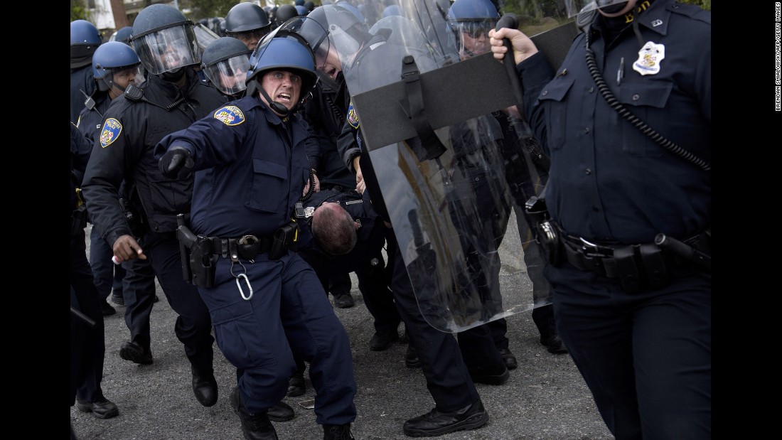
[[[135,38],[133,47],[142,64],[153,75],[201,63],[201,52],[192,23]]]

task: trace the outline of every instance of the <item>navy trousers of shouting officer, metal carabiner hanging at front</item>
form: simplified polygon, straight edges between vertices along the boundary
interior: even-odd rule
[[[350,340],[315,271],[295,252],[278,260],[264,253],[254,263],[240,261],[243,267],[231,267],[230,259],[218,259],[214,287],[199,293],[210,310],[217,345],[238,369],[247,411],[268,410],[285,397],[296,371],[295,353],[310,364],[317,423],[352,423],[356,380]],[[241,292],[239,274],[246,275],[239,279]]]

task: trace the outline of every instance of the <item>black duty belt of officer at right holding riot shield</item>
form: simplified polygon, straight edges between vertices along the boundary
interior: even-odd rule
[[[659,234],[654,243],[625,245],[594,243],[565,233],[559,225],[557,229],[568,263],[580,270],[588,270],[608,278],[619,278],[626,292],[638,292],[644,283],[651,288],[665,287],[669,282],[666,262],[687,262],[711,267],[710,231],[684,241]],[[672,245],[672,242],[676,245]]]

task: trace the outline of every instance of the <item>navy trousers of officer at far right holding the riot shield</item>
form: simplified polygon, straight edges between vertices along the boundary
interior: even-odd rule
[[[711,438],[710,273],[634,294],[569,263],[545,274],[557,330],[617,440]]]

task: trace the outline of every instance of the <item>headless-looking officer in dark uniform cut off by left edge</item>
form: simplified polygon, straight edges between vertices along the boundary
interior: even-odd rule
[[[106,341],[98,289],[87,260],[84,201],[77,196],[92,144],[70,123],[70,406],[99,419],[117,417],[117,405],[106,399],[100,383]]]

